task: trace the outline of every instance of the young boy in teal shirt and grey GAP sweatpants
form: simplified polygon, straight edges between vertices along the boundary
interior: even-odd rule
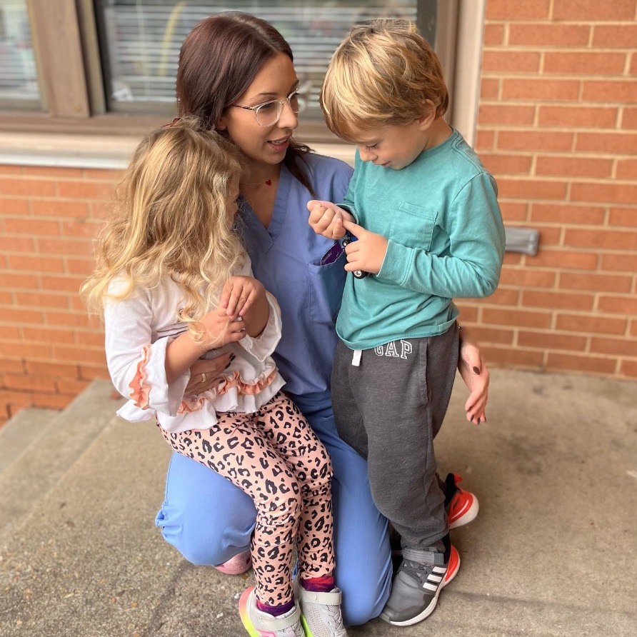
[[[341,438],[368,459],[378,509],[403,561],[381,618],[426,618],[456,575],[433,438],[458,363],[453,297],[496,290],[504,229],[496,184],[443,119],[440,63],[413,24],[351,29],[321,89],[328,128],[356,144],[343,208],[310,201],[309,224],[348,234],[332,375]]]

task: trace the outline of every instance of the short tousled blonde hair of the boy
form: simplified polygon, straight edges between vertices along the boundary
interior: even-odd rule
[[[407,20],[354,26],[329,63],[319,101],[328,129],[342,139],[352,129],[411,124],[445,114],[449,97],[438,56]]]

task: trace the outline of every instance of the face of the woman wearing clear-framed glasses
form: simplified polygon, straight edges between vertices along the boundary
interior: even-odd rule
[[[259,106],[271,99],[286,99],[299,85],[291,59],[276,54],[256,74],[246,92],[236,100],[240,106]],[[226,130],[230,139],[256,164],[279,164],[289,146],[292,131],[299,120],[286,102],[281,117],[272,126],[259,126],[254,111],[229,106],[218,130]]]

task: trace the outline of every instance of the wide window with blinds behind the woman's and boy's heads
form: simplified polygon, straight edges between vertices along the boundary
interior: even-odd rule
[[[102,68],[110,111],[149,111],[174,104],[179,49],[201,19],[246,11],[269,21],[294,52],[301,85],[309,91],[304,119],[322,119],[318,90],[346,31],[376,17],[416,21],[417,0],[101,0],[96,3]]]

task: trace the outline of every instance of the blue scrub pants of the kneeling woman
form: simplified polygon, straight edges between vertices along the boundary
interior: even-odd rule
[[[367,463],[338,437],[329,396],[291,396],[332,461],[336,585],[343,621],[356,626],[380,614],[391,589],[387,520],[373,503]],[[156,524],[195,564],[216,566],[248,551],[256,521],[251,498],[200,463],[173,453]]]

